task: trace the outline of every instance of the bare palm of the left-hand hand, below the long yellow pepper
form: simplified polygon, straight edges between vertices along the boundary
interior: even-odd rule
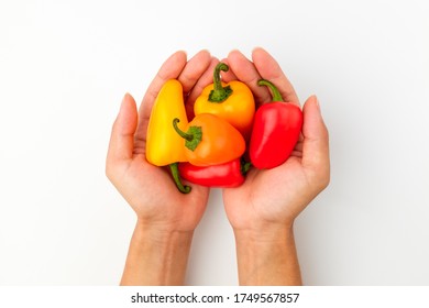
[[[142,222],[190,231],[206,208],[207,188],[193,186],[191,194],[179,193],[168,167],[151,165],[143,153],[134,155],[121,183],[123,196]]]

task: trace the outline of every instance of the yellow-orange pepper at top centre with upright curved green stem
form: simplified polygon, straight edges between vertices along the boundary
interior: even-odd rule
[[[208,85],[194,105],[194,113],[211,113],[227,120],[240,131],[245,140],[252,131],[255,102],[249,87],[239,80],[221,82],[220,70],[228,72],[229,67],[220,63],[215,68],[213,84]]]

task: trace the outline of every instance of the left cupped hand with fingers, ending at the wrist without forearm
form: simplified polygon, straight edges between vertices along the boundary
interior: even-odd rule
[[[156,167],[145,158],[146,130],[153,103],[168,79],[184,88],[186,109],[211,82],[216,59],[206,51],[187,61],[184,52],[173,54],[151,82],[138,111],[134,99],[125,95],[114,121],[106,173],[131,205],[142,224],[166,231],[194,231],[205,211],[209,190],[193,185],[193,191],[178,191],[168,168]]]

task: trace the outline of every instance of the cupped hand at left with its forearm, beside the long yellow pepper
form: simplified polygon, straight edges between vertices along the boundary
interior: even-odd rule
[[[106,173],[138,217],[123,284],[179,284],[183,280],[193,232],[205,211],[209,190],[193,185],[191,194],[184,195],[176,188],[167,168],[147,163],[146,130],[152,106],[164,82],[178,79],[184,88],[187,110],[191,110],[196,96],[211,82],[210,72],[215,62],[206,51],[189,62],[184,52],[177,52],[161,67],[139,112],[130,95],[122,100],[112,128]],[[139,261],[142,256],[153,256],[154,260],[146,260],[146,264],[142,264]],[[176,266],[169,273],[165,267],[170,262],[182,264],[182,268]],[[147,275],[147,268],[143,268],[145,265],[152,277]],[[168,273],[175,277],[166,277]]]

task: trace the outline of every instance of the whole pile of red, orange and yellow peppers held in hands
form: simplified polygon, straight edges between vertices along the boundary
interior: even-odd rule
[[[221,81],[224,63],[216,66],[213,82],[194,105],[195,117],[188,121],[182,84],[166,81],[150,118],[146,160],[155,166],[169,166],[180,193],[191,188],[182,178],[207,187],[238,187],[251,167],[270,169],[289,157],[302,127],[302,112],[285,102],[271,81],[272,102],[255,108],[250,88],[239,80]]]

